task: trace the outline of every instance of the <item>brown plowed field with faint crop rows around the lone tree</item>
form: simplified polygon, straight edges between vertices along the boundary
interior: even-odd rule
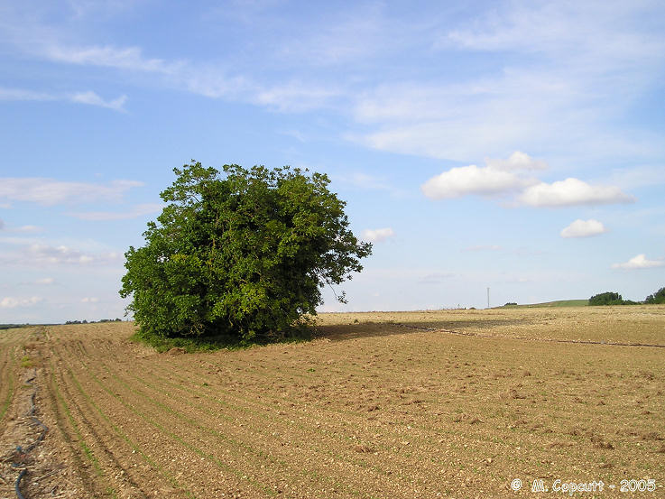
[[[0,331],[0,497],[23,468],[28,499],[665,496],[663,306],[324,314],[210,354],[133,332]]]

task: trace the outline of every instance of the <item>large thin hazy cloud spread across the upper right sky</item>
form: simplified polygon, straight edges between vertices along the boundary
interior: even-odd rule
[[[374,130],[350,135],[383,151],[467,161],[522,144],[551,156],[645,157],[662,145],[614,129],[616,117],[660,79],[665,38],[653,4],[509,3],[439,35],[441,60],[501,51],[509,60],[457,81],[392,81],[356,99]],[[466,70],[466,71],[465,71]],[[644,147],[639,147],[642,144]],[[546,148],[546,149],[545,149]]]

